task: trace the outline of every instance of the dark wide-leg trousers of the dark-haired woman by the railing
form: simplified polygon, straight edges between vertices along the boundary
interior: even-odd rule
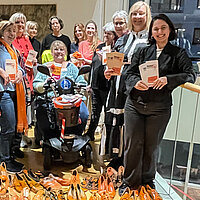
[[[155,179],[158,146],[171,116],[171,108],[137,103],[125,104],[124,182],[132,188]]]

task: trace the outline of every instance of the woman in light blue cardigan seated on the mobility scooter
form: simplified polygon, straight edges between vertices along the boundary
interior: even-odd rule
[[[67,54],[67,48],[62,41],[56,40],[51,44],[51,53],[53,55],[54,62],[62,65],[61,78],[68,77],[76,83],[87,85],[87,82],[85,81],[84,77],[81,75],[78,76],[78,72],[79,72],[78,68],[74,64],[65,61],[64,57]],[[45,65],[47,66],[48,64],[49,63],[45,63]],[[43,88],[43,85],[48,78],[49,77],[47,75],[42,74],[41,72],[37,73],[33,81],[33,88],[35,92],[39,94],[44,93],[45,90]],[[53,97],[54,94],[53,92],[48,92],[48,95]],[[45,100],[42,98],[38,98],[36,102],[37,102],[36,103],[37,104],[36,106],[37,123],[36,123],[35,137],[36,137],[36,143],[38,143],[42,139],[42,136],[44,136],[44,139],[55,137],[55,127],[51,127],[52,124],[49,122],[50,119],[47,113],[47,106],[48,106],[47,102],[45,102]],[[85,128],[85,125],[87,123],[88,115],[89,113],[88,113],[87,107],[84,104],[84,102],[82,102],[80,105],[81,124],[80,126],[78,125],[74,134],[75,133],[82,134]],[[78,133],[77,133],[77,130],[78,130]],[[45,134],[45,133],[48,133],[48,134]],[[60,134],[60,133],[57,132],[57,134]]]

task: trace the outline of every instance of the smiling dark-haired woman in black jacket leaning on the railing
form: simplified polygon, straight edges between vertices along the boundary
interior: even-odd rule
[[[148,184],[155,188],[157,150],[171,116],[171,93],[177,86],[195,81],[196,74],[186,51],[170,43],[175,37],[170,19],[164,14],[156,15],[149,28],[150,46],[136,52],[127,70],[125,173],[120,194],[126,187],[137,189]],[[153,60],[158,60],[155,67],[159,78],[149,84],[141,80],[139,66]]]

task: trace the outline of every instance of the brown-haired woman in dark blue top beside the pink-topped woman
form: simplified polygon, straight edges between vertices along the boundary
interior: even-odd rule
[[[82,23],[74,25],[74,42],[71,43],[71,53],[78,51],[80,42],[85,40],[85,26]]]

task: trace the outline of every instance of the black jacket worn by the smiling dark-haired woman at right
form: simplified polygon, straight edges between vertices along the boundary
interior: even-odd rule
[[[127,70],[127,94],[131,95],[131,98],[136,102],[152,103],[159,108],[168,108],[172,105],[171,92],[173,89],[186,82],[194,83],[196,74],[186,51],[168,43],[158,58],[159,76],[167,77],[167,85],[161,90],[149,88],[146,91],[140,91],[135,89],[135,84],[141,79],[138,66],[146,61],[155,59],[155,44],[139,49],[136,52]]]

